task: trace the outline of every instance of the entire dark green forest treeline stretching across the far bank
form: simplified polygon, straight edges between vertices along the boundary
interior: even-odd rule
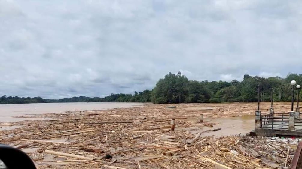
[[[63,99],[43,99],[41,97],[0,98],[0,104],[23,103],[63,103],[63,102],[153,102],[164,103],[220,103],[255,102],[260,85],[261,101],[270,101],[273,89],[274,101],[291,101],[290,81],[302,84],[302,74],[290,73],[286,78],[244,75],[243,81],[194,81],[184,75],[168,73],[159,79],[152,91],[145,90],[134,94],[111,94],[104,98],[72,97]],[[296,89],[296,88],[295,88]],[[297,91],[295,91],[296,93]]]

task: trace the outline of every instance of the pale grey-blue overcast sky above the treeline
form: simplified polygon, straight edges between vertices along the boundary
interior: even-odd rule
[[[0,95],[104,97],[302,70],[302,1],[0,0]]]

